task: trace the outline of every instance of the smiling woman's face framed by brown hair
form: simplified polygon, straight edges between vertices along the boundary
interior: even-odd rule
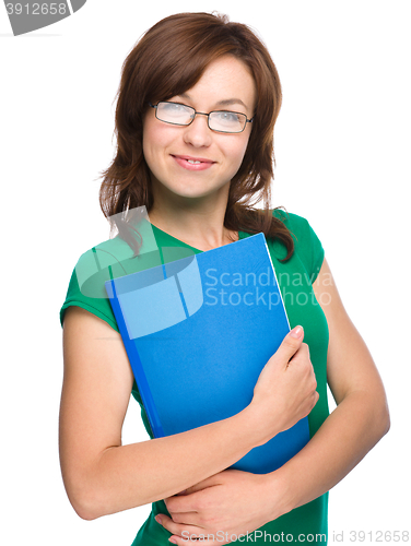
[[[225,56],[209,64],[193,87],[169,100],[206,114],[231,110],[251,119],[255,82],[245,63]],[[206,116],[196,116],[190,126],[173,126],[156,119],[155,110],[150,108],[143,124],[143,153],[152,174],[154,201],[157,197],[226,197],[230,181],[242,165],[250,131],[251,123],[246,123],[242,133],[212,131]]]

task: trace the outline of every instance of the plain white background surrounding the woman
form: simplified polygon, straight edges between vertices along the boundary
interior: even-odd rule
[[[124,59],[160,19],[212,10],[250,25],[274,59],[284,99],[272,204],[317,232],[388,393],[389,435],[330,494],[330,543],[410,530],[409,2],[89,0],[20,37],[0,5],[1,544],[127,546],[148,514],[87,522],[67,499],[58,312],[80,253],[108,238],[98,176]],[[145,438],[131,403],[124,440]]]

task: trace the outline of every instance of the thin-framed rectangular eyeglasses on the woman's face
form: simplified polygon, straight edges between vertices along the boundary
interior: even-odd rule
[[[155,108],[155,117],[160,121],[173,126],[189,126],[197,115],[207,116],[209,128],[221,133],[240,133],[246,128],[246,124],[251,123],[254,119],[247,119],[247,116],[239,111],[215,110],[204,114],[196,111],[191,106],[179,103],[161,102],[156,105],[149,104],[152,108]]]

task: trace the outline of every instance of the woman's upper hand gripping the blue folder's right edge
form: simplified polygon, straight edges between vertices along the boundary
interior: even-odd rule
[[[263,367],[248,410],[255,412],[257,427],[266,443],[306,417],[319,394],[304,330],[294,328]]]

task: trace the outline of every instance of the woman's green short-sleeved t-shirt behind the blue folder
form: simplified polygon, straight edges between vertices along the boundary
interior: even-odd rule
[[[327,401],[328,325],[322,309],[314,296],[312,286],[322,264],[324,249],[318,237],[305,218],[296,214],[284,213],[280,210],[275,210],[273,214],[285,224],[294,238],[294,253],[286,262],[280,261],[286,256],[285,247],[281,241],[268,239],[267,245],[289,316],[290,325],[294,328],[301,324],[304,328],[304,342],[309,346],[310,359],[317,379],[317,391],[319,393],[319,400],[308,415],[309,432],[310,437],[313,437],[329,415]],[[155,226],[152,226],[152,234],[155,238],[154,245],[158,247],[160,253],[145,253],[143,268],[156,265],[160,263],[158,260],[162,262],[171,261],[173,258],[167,260],[165,256],[166,252],[168,252],[167,256],[173,254],[173,252],[169,252],[173,250],[173,247],[178,248],[178,252],[184,252],[185,250],[190,253],[201,252],[201,250],[186,245]],[[238,234],[240,239],[248,236],[249,234],[244,232],[239,232]],[[99,281],[98,283],[98,276],[93,277],[93,286],[90,286],[90,283],[87,285],[87,283],[82,283],[81,281],[82,290],[80,290],[79,287],[78,278],[82,278],[81,272],[84,268],[89,268],[90,271],[90,257],[92,257],[93,260],[96,259],[96,249],[101,250],[98,257],[107,256],[107,259],[110,260],[110,256],[121,256],[126,258],[122,263],[137,263],[137,259],[130,260],[132,256],[131,249],[118,237],[105,241],[82,254],[71,276],[66,301],[60,310],[60,321],[62,324],[64,310],[69,306],[78,306],[105,320],[118,332],[116,319],[113,314],[108,298],[105,297],[105,293],[102,292],[104,290],[103,282]],[[164,249],[164,252],[162,249]],[[140,262],[138,266],[139,269],[141,269],[141,263],[142,262]],[[130,265],[130,269],[127,269],[126,265],[122,274],[131,273],[132,271],[133,265]],[[96,284],[102,286],[97,286],[96,292],[93,292]],[[136,381],[132,388],[132,395],[141,406],[144,426],[152,438],[149,419],[142,405]],[[171,533],[154,520],[154,515],[157,513],[168,514],[163,500],[153,502],[152,512],[138,532],[132,546],[158,546],[171,544],[168,542]],[[238,539],[232,544],[250,542],[254,544],[274,542],[327,544],[327,513],[328,492],[267,523],[258,531],[250,533],[248,537],[238,537]],[[221,537],[220,541],[222,542]]]

